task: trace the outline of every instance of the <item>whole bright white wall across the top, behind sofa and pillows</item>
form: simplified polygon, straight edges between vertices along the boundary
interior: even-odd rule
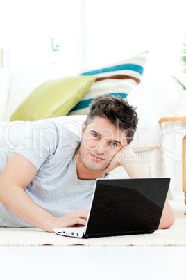
[[[58,63],[71,68],[148,49],[144,79],[174,75],[185,8],[185,0],[0,0],[0,47],[10,49],[12,69],[50,63],[48,36],[60,45]]]

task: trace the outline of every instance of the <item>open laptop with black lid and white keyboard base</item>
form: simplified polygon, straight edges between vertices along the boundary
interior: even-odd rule
[[[87,225],[53,231],[74,238],[153,233],[169,182],[170,178],[97,179]]]

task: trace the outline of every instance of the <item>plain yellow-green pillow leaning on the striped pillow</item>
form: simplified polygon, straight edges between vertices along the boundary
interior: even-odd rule
[[[43,120],[65,116],[78,104],[96,76],[67,77],[45,81],[24,100],[10,120]]]

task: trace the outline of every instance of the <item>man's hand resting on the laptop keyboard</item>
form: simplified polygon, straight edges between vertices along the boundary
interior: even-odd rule
[[[46,231],[53,232],[53,228],[66,228],[76,224],[78,226],[86,226],[88,212],[88,210],[74,210],[63,217],[53,217],[53,222],[49,225],[49,228],[46,228]]]

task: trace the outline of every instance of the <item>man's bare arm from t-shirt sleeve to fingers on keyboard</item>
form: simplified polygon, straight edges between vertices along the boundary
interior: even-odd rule
[[[85,226],[88,211],[75,210],[64,217],[54,217],[46,210],[40,208],[28,194],[25,188],[35,178],[36,167],[18,153],[13,153],[0,176],[0,201],[12,213],[29,224],[53,231],[53,228]]]

